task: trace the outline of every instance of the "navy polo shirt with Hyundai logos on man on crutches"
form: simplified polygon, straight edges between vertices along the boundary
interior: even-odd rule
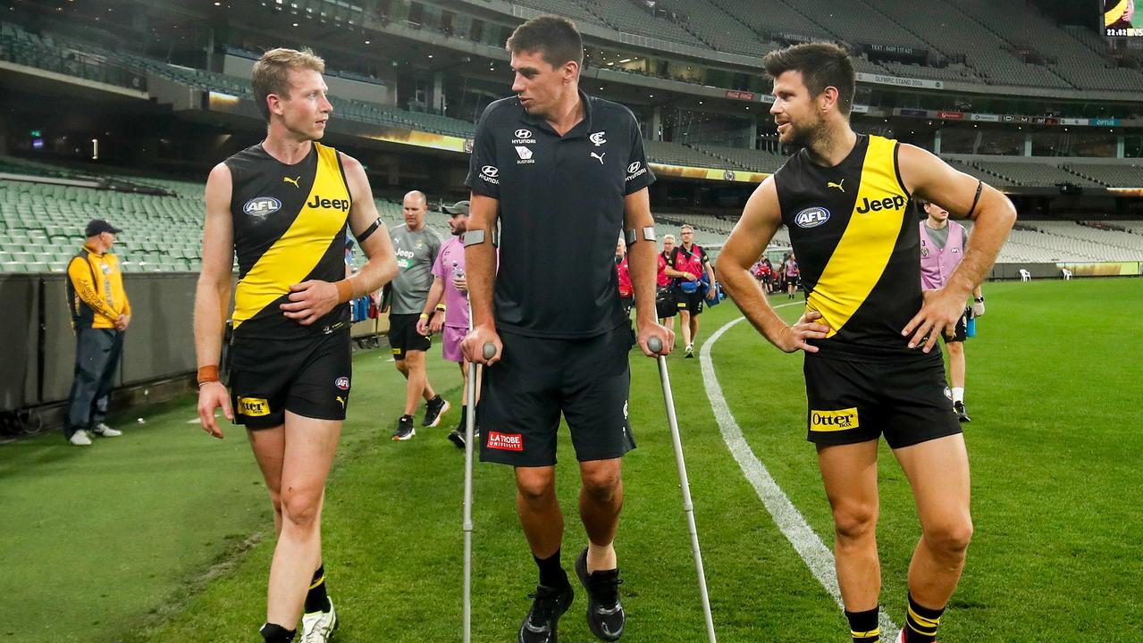
[[[517,97],[477,123],[465,179],[499,201],[496,328],[586,338],[626,323],[615,272],[624,198],[655,182],[631,110],[580,93],[583,120],[560,136]]]

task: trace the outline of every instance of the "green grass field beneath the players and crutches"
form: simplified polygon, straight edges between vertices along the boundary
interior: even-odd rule
[[[986,284],[969,340],[966,440],[976,533],[942,621],[952,642],[1143,641],[1143,280]],[[777,298],[775,304],[785,303]],[[783,308],[786,319],[797,306]],[[702,338],[738,316],[703,315]],[[712,347],[719,383],[754,455],[826,546],[829,509],[804,440],[801,359],[740,323]],[[338,640],[461,638],[463,455],[447,427],[389,440],[403,395],[386,351],[360,353],[325,509],[325,560]],[[775,527],[729,453],[700,360],[671,376],[719,640],[848,641],[830,595]],[[430,356],[453,401],[459,373]],[[694,564],[655,363],[632,354],[639,449],[624,460],[617,549],[624,641],[704,641]],[[135,424],[143,416],[146,424]],[[270,507],[242,433],[214,441],[187,424],[190,399],[114,418],[121,439],[90,449],[58,435],[0,445],[0,641],[257,641],[272,552]],[[574,463],[567,440],[560,460]],[[884,449],[884,447],[882,447]],[[570,511],[565,566],[585,542],[576,472],[559,467]],[[511,471],[475,467],[473,640],[514,640],[535,566]],[[881,458],[882,602],[904,620],[919,536],[904,477]],[[576,597],[560,640],[593,637]]]

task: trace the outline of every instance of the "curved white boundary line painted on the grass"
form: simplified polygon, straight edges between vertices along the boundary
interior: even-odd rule
[[[781,304],[774,307],[782,308],[798,304],[800,302]],[[722,441],[726,442],[730,455],[738,463],[738,468],[742,469],[743,475],[746,476],[746,480],[758,493],[758,498],[766,506],[766,511],[770,513],[774,523],[778,525],[782,535],[786,537],[786,540],[793,545],[794,550],[798,552],[801,560],[806,562],[806,566],[809,568],[814,578],[822,584],[822,587],[830,593],[830,596],[833,596],[833,601],[838,606],[845,610],[845,605],[841,603],[841,588],[838,587],[838,577],[833,566],[833,553],[822,542],[822,539],[818,538],[814,529],[802,517],[801,512],[793,506],[793,503],[790,501],[790,498],[782,491],[777,482],[774,482],[770,472],[766,471],[766,465],[754,455],[745,436],[742,435],[742,429],[738,427],[738,423],[735,421],[734,413],[730,412],[730,407],[727,405],[726,397],[722,395],[722,388],[718,384],[718,377],[714,375],[714,363],[711,361],[711,347],[722,337],[722,333],[745,319],[738,318],[727,322],[710,339],[704,341],[703,347],[698,351],[703,369],[703,386],[706,387],[706,397],[710,400],[711,409],[714,411],[714,419],[718,420]],[[879,625],[881,626],[882,641],[892,641],[897,635],[897,630],[901,629],[894,625],[893,620],[885,613],[885,610],[881,610]]]

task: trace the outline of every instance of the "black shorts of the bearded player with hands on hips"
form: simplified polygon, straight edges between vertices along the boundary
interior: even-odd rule
[[[893,449],[961,432],[940,353],[906,362],[868,363],[806,355],[806,440]]]

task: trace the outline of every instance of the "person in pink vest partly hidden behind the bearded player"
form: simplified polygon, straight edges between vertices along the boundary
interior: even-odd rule
[[[968,243],[968,231],[957,222],[949,220],[949,211],[936,203],[918,200],[918,204],[928,215],[920,222],[921,227],[921,288],[936,290],[943,288],[960,264]],[[965,314],[957,322],[951,337],[944,337],[949,349],[949,379],[952,380],[952,408],[960,421],[972,421],[965,411],[965,339],[968,320],[984,314],[984,295],[980,284],[973,290],[974,304],[966,307]]]

